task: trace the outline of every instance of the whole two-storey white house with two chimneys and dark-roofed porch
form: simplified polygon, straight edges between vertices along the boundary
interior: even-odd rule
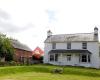
[[[98,28],[93,33],[52,35],[47,32],[44,63],[100,68]]]

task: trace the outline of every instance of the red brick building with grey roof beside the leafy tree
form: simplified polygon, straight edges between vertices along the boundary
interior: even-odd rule
[[[17,40],[12,40],[11,42],[15,49],[14,60],[16,62],[30,63],[32,60],[32,50]]]

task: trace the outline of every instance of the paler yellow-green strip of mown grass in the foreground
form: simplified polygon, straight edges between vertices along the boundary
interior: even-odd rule
[[[0,80],[100,80],[99,77],[27,72],[0,77]]]

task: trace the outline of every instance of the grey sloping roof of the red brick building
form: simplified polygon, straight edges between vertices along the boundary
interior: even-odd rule
[[[14,48],[22,49],[22,50],[26,50],[26,51],[32,51],[28,46],[20,43],[18,40],[11,40],[11,43]]]

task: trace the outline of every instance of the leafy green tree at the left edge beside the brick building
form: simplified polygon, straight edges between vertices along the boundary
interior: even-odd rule
[[[4,34],[0,34],[0,58],[5,58],[6,61],[13,60],[14,49],[11,45],[11,40]]]

